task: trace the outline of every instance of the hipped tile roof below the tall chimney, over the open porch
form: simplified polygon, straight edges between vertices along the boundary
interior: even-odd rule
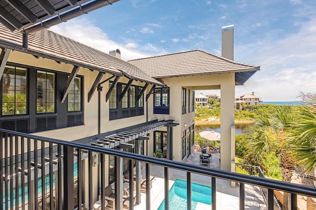
[[[237,84],[243,84],[255,71],[260,70],[259,66],[237,63],[203,50],[192,50],[128,62],[154,78],[240,72],[241,74],[236,74]]]

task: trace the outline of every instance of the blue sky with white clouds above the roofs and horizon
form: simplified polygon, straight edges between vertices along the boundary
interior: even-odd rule
[[[221,55],[221,27],[232,24],[234,60],[261,66],[236,96],[316,93],[316,0],[120,0],[50,30],[130,60],[193,49]]]

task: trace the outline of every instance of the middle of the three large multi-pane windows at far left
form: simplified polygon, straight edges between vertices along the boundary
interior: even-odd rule
[[[55,112],[55,73],[37,71],[36,113]]]

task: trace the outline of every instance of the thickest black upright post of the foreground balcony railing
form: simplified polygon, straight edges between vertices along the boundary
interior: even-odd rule
[[[64,145],[64,209],[74,206],[74,148]]]

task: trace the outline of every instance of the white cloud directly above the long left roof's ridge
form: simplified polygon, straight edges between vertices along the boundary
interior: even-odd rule
[[[105,53],[109,53],[110,50],[118,48],[121,51],[121,58],[125,61],[166,53],[158,47],[150,46],[150,44],[141,46],[130,39],[125,39],[126,44],[112,41],[100,28],[94,26],[89,19],[85,17],[67,21],[66,23],[51,27],[49,30],[60,35],[65,35]],[[140,51],[140,49],[143,51]]]

